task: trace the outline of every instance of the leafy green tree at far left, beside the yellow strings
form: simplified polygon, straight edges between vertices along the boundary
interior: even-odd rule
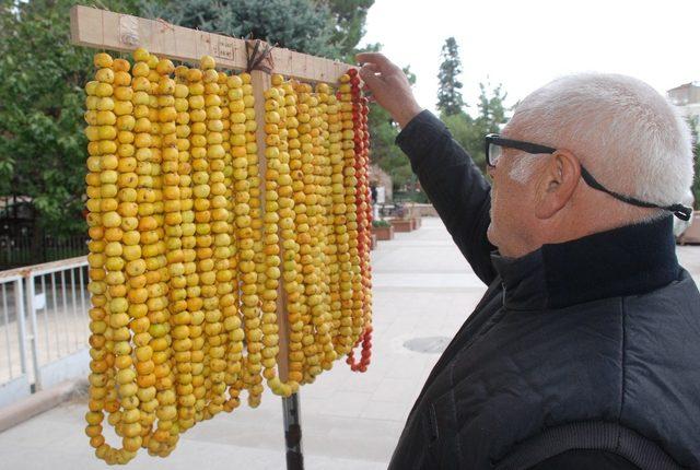
[[[70,45],[75,1],[0,1],[0,195],[30,197],[34,232],[84,232],[82,87],[93,51]],[[105,1],[138,12],[128,0]]]

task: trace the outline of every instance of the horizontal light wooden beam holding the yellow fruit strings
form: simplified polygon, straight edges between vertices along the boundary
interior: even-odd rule
[[[129,52],[139,47],[159,57],[197,62],[209,55],[223,69],[245,70],[245,40],[221,34],[176,26],[162,20],[147,20],[92,7],[70,10],[71,42],[95,49]],[[308,82],[335,83],[348,69],[347,63],[273,48],[273,73]]]

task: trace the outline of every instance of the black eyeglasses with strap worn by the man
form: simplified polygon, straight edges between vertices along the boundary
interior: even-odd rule
[[[486,137],[486,158],[489,166],[495,167],[498,161],[501,158],[501,154],[503,153],[503,148],[522,150],[525,153],[535,155],[540,153],[552,154],[557,152],[557,149],[552,149],[551,146],[539,145],[537,143],[524,142],[521,140],[504,139],[498,133],[490,133]],[[583,167],[583,165],[581,165],[581,177],[584,181],[586,181],[586,185],[588,185],[593,189],[606,192],[612,196],[615,199],[627,202],[628,204],[638,205],[640,208],[664,209],[666,211],[673,212],[674,215],[682,221],[690,220],[690,215],[692,215],[692,209],[682,204],[658,205],[652,202],[640,201],[639,199],[620,195],[619,192],[610,191],[598,181],[596,181],[593,175],[591,175],[588,171]]]

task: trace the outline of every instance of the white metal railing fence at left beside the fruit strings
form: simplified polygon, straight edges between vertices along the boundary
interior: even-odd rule
[[[85,375],[89,367],[85,257],[0,272],[0,407]],[[26,307],[26,308],[25,308]],[[26,326],[25,326],[26,324]]]

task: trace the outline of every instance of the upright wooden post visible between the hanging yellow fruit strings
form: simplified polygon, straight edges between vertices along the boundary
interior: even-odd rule
[[[260,215],[265,215],[265,176],[267,172],[267,158],[265,157],[265,91],[271,85],[270,75],[261,70],[250,73],[253,94],[255,96],[255,120],[257,121],[256,143],[258,144],[258,166],[260,168]],[[284,259],[284,248],[280,239],[280,259]],[[280,267],[281,268],[281,267]],[[287,310],[287,292],[283,289],[284,279],[280,278],[277,289],[277,326],[279,328],[280,352],[277,355],[278,374],[280,380],[289,378],[289,312]]]

